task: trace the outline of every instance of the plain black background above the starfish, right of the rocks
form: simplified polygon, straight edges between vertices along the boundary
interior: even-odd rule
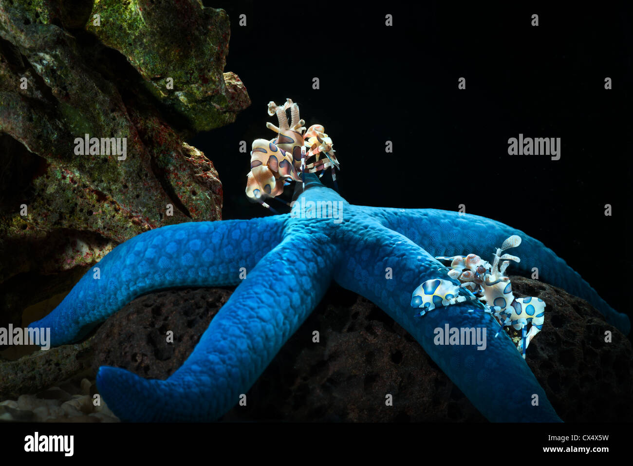
[[[277,121],[266,104],[291,98],[306,127],[321,123],[332,137],[350,203],[446,210],[463,203],[467,213],[544,242],[630,315],[633,39],[624,11],[448,2],[222,8],[231,20],[225,71],[239,75],[253,104],[234,124],[188,142],[218,169],[223,218],[270,215],[244,194],[249,154],[239,142],[250,151],[253,139],[272,139],[266,121]],[[605,90],[605,77],[613,89]],[[508,155],[508,138],[519,133],[560,137],[561,159]],[[329,175],[323,181],[331,186]]]

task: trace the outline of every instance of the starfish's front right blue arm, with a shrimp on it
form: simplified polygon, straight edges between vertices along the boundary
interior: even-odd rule
[[[482,312],[479,303],[458,303],[416,317],[418,312],[411,307],[413,290],[425,280],[450,280],[446,268],[410,239],[379,222],[369,221],[365,226],[361,241],[351,235],[342,238],[339,249],[346,255],[335,267],[335,281],[371,299],[410,332],[487,419],[560,422],[510,338],[505,332],[494,337],[499,324]],[[392,279],[387,279],[388,268]],[[457,329],[485,328],[485,349],[435,344],[436,329],[445,329],[446,324]],[[537,406],[532,405],[534,395]]]

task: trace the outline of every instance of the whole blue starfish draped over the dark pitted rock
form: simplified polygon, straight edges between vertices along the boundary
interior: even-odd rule
[[[628,317],[610,308],[551,249],[494,220],[433,209],[349,205],[314,175],[306,176],[297,201],[306,206],[310,201],[337,203],[342,221],[285,214],[145,232],[97,264],[100,279],[89,271],[51,314],[30,326],[51,327],[53,346],[71,343],[149,291],[239,284],[189,358],[166,381],[115,367],[100,367],[97,373],[99,392],[122,420],[214,420],[248,391],[335,280],[379,305],[410,332],[487,419],[560,421],[511,339],[505,332],[492,337],[499,324],[479,303],[458,303],[423,317],[411,307],[411,293],[420,283],[449,279],[448,269],[434,256],[486,256],[518,234],[523,238],[517,250],[520,272],[538,267],[543,280],[588,299],[608,322],[629,331]],[[487,348],[434,344],[434,329],[447,323],[486,327]]]

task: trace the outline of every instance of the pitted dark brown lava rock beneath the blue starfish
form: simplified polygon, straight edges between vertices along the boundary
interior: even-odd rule
[[[586,301],[512,277],[517,297],[547,303],[527,363],[561,419],[630,420],[628,339]],[[135,299],[97,332],[93,367],[114,365],[166,379],[180,367],[230,291],[184,289]],[[175,344],[165,343],[173,329]],[[320,343],[312,343],[313,331]],[[605,331],[613,341],[605,343]],[[98,343],[97,343],[98,342]],[[385,406],[385,394],[394,397]],[[333,285],[249,390],[248,406],[223,420],[482,422],[465,398],[402,327],[370,301]]]

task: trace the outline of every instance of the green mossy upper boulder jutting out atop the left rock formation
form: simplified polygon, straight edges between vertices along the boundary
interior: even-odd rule
[[[249,104],[241,80],[223,73],[230,37],[223,9],[198,1],[101,0],[91,18],[87,29],[125,55],[147,89],[194,129],[233,122]]]

